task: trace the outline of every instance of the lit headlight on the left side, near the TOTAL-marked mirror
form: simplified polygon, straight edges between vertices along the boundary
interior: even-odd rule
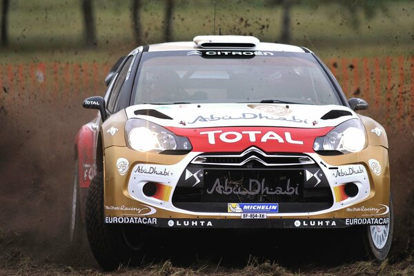
[[[132,150],[180,154],[192,149],[187,137],[143,119],[129,119],[125,124],[126,144]]]

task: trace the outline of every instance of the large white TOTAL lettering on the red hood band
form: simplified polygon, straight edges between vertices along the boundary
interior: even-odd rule
[[[219,135],[217,135],[219,134]],[[279,143],[286,143],[288,144],[297,144],[303,145],[304,141],[297,141],[292,139],[290,132],[284,132],[284,139],[282,136],[278,135],[274,131],[268,131],[266,133],[262,133],[260,130],[248,130],[248,131],[226,131],[223,130],[211,130],[211,131],[204,131],[200,132],[200,135],[207,135],[208,137],[208,144],[214,145],[216,144],[216,139],[218,138],[220,141],[224,143],[236,143],[242,139],[248,139],[250,142],[255,142],[256,140],[261,141],[262,143],[266,143],[270,140],[277,140]]]

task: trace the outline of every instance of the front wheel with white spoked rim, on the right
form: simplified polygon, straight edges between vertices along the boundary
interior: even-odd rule
[[[377,262],[383,262],[391,248],[393,240],[394,213],[393,200],[390,197],[389,204],[390,221],[389,224],[383,226],[366,226],[364,233],[364,245],[366,255],[369,259]]]

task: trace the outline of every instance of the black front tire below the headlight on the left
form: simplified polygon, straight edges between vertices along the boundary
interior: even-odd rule
[[[133,250],[125,242],[121,225],[104,223],[103,173],[92,179],[86,197],[86,233],[90,249],[104,270],[130,261]]]

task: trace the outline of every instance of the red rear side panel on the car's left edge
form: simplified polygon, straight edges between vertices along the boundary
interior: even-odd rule
[[[95,132],[88,126],[82,126],[76,137],[79,186],[89,188],[90,181],[96,175]]]

